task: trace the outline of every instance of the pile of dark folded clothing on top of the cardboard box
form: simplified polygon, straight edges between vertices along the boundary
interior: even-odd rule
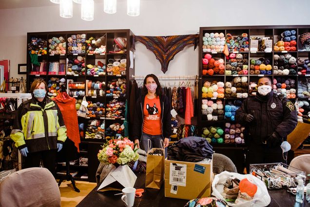
[[[213,148],[203,137],[189,136],[175,142],[168,148],[168,159],[199,162],[205,158],[212,158]]]

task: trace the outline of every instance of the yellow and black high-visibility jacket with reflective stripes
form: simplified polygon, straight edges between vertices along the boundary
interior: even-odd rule
[[[46,97],[42,109],[35,98],[20,104],[11,132],[11,139],[19,149],[28,147],[29,152],[57,149],[57,142],[66,138],[66,126],[58,105]]]

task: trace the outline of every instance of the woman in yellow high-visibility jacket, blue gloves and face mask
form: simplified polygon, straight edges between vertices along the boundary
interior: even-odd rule
[[[26,157],[25,167],[43,167],[56,174],[56,155],[67,138],[66,126],[58,105],[46,97],[46,82],[36,79],[31,84],[32,98],[20,104],[11,139]]]

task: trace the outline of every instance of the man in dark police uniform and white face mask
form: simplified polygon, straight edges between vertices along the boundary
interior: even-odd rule
[[[262,77],[257,84],[258,93],[244,100],[235,116],[246,127],[248,168],[249,164],[284,162],[280,145],[297,125],[294,104],[273,93],[271,79]]]

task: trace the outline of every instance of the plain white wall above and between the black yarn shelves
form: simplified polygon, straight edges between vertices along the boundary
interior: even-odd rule
[[[29,4],[31,3],[31,0]],[[48,0],[46,0],[48,1]],[[26,63],[27,32],[131,29],[136,35],[169,36],[195,34],[204,26],[310,24],[310,0],[141,0],[140,16],[126,15],[126,1],[118,0],[117,13],[103,12],[103,0],[95,0],[95,20],[59,17],[57,4],[46,7],[0,10],[0,59],[11,60],[11,76]],[[174,56],[166,75],[196,75],[198,50],[185,48]],[[155,55],[136,44],[136,75],[164,75]]]

